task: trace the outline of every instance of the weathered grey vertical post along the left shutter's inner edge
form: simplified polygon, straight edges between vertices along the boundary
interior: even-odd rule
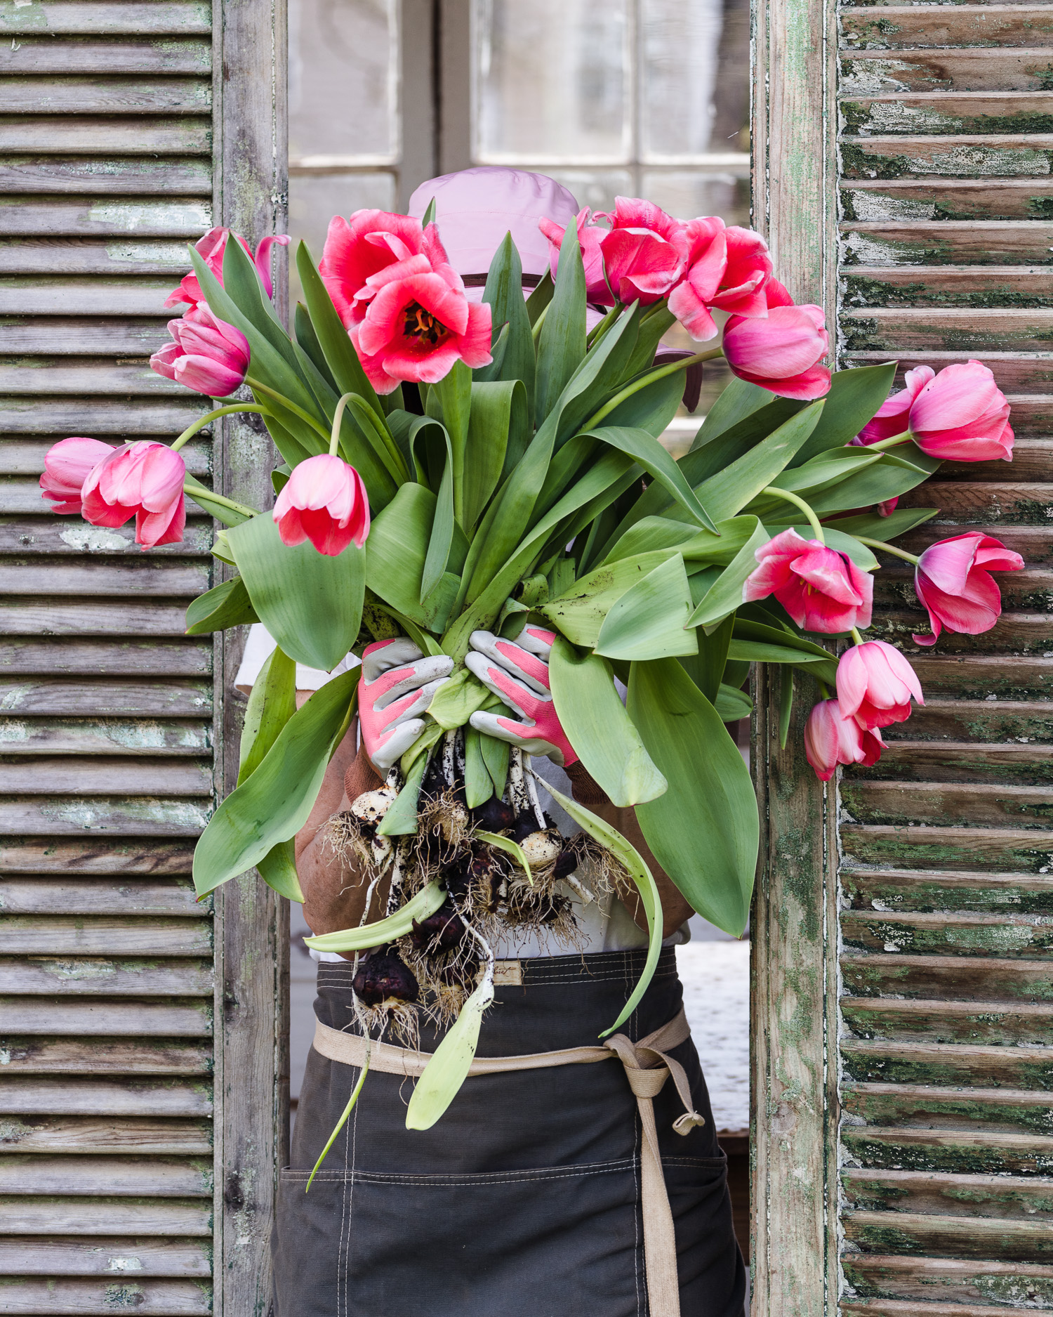
[[[283,233],[288,200],[286,0],[213,0],[216,224],[257,242]],[[283,249],[278,249],[284,262]],[[284,263],[275,279],[284,312]],[[216,489],[255,507],[272,499],[272,448],[257,417],[216,435]],[[220,564],[220,566],[222,566]],[[224,579],[233,573],[224,568]],[[216,801],[233,790],[241,711],[230,697],[241,630],[215,651]],[[271,1312],[270,1234],[288,1162],[288,902],[251,872],[215,893],[215,1317]]]

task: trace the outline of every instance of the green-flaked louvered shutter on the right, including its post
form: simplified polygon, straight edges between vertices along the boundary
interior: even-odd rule
[[[925,651],[888,560],[875,632],[928,703],[837,795],[762,705],[754,1313],[1048,1308],[1053,7],[794,0],[762,32],[762,196],[794,291],[837,313],[844,363],[974,357],[1014,406],[1012,465],[944,466],[900,500],[941,508],[903,545],[982,531],[1029,569],[1000,578],[992,631]]]

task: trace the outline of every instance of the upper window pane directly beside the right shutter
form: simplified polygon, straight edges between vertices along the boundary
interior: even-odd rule
[[[749,150],[748,0],[640,0],[641,159]]]

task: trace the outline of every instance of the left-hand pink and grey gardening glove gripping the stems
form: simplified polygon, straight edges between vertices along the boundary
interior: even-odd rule
[[[376,640],[362,653],[358,722],[378,773],[400,759],[424,728],[432,697],[453,672],[453,658],[425,658],[412,640]]]

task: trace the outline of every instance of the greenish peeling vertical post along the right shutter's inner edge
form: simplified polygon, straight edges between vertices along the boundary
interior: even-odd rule
[[[837,328],[832,0],[754,0],[753,224],[798,302]],[[786,669],[788,672],[788,669]],[[837,1312],[837,782],[804,759],[817,698],[796,677],[779,748],[778,669],[753,726],[761,860],[752,925],[752,1317]]]

